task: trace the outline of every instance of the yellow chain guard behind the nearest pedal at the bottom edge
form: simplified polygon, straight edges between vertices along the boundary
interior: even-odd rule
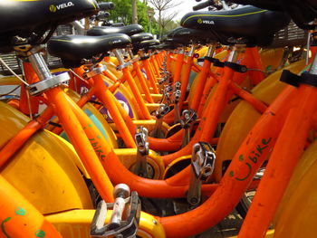
[[[91,221],[95,210],[73,210],[45,216],[64,238],[91,238]],[[112,211],[107,211],[105,224],[109,223]],[[138,236],[142,238],[165,238],[164,228],[154,216],[142,213],[139,219]]]

